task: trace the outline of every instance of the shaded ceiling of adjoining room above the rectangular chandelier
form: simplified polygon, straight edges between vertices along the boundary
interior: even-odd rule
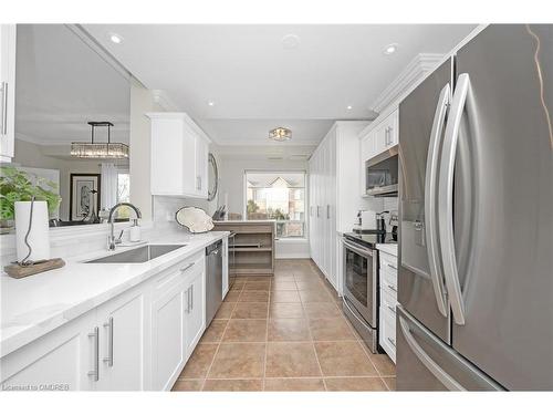
[[[131,86],[64,24],[18,24],[15,136],[41,145],[91,139],[88,121],[109,121],[128,143]],[[105,141],[105,128],[96,139]]]

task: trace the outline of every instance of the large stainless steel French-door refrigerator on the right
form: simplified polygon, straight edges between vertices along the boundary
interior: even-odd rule
[[[553,25],[489,25],[399,105],[397,388],[553,390]]]

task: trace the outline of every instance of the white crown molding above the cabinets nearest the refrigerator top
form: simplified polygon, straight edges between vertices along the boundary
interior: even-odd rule
[[[380,114],[409,91],[410,86],[428,75],[428,73],[430,73],[430,71],[432,71],[442,60],[444,54],[441,53],[417,54],[399,75],[382,92],[369,106],[369,110]]]

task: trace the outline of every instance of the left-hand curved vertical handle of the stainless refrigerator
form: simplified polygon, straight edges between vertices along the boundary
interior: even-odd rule
[[[451,89],[449,83],[442,87],[434,114],[432,131],[430,133],[430,143],[428,145],[428,156],[426,162],[425,177],[425,236],[426,249],[428,255],[428,264],[430,268],[430,278],[432,281],[434,293],[438,310],[444,317],[448,317],[446,295],[444,292],[444,270],[438,251],[438,218],[436,214],[436,190],[439,168],[440,138],[446,125],[446,116],[451,98]]]

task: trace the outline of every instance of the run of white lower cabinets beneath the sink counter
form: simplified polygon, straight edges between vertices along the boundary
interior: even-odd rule
[[[3,356],[0,390],[170,390],[205,330],[201,250]]]

